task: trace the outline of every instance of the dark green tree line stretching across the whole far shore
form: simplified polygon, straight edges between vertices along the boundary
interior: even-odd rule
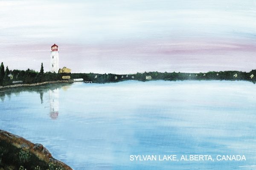
[[[4,68],[3,63],[0,65],[0,86],[19,84],[33,84],[45,81],[62,80],[63,75],[70,75],[71,79],[83,78],[84,81],[92,81],[93,83],[110,83],[126,80],[149,81],[149,80],[165,80],[165,81],[184,81],[184,80],[244,80],[256,82],[256,70],[250,72],[224,71],[224,72],[207,72],[207,73],[182,73],[182,72],[144,72],[128,75],[119,74],[96,74],[96,73],[51,73],[44,72],[43,63],[41,63],[40,72],[32,69],[27,70],[9,70],[8,66]],[[150,79],[146,79],[150,76]]]

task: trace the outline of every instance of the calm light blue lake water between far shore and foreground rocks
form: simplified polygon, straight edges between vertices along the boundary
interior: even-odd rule
[[[0,129],[74,170],[256,169],[256,85],[246,81],[54,84],[0,92]],[[214,161],[131,161],[130,155]],[[217,161],[217,155],[246,161]]]

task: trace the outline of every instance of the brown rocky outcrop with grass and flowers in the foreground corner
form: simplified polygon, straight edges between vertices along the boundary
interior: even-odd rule
[[[1,169],[2,168],[2,169]],[[0,130],[0,170],[72,170],[42,144]]]

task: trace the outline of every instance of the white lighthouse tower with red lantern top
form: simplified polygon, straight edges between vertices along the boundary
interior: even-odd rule
[[[50,72],[58,73],[59,70],[59,57],[58,57],[58,46],[54,44],[51,48],[51,63]]]

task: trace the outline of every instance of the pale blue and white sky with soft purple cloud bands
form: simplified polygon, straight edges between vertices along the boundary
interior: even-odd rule
[[[71,72],[256,69],[256,0],[0,0],[0,62]]]

